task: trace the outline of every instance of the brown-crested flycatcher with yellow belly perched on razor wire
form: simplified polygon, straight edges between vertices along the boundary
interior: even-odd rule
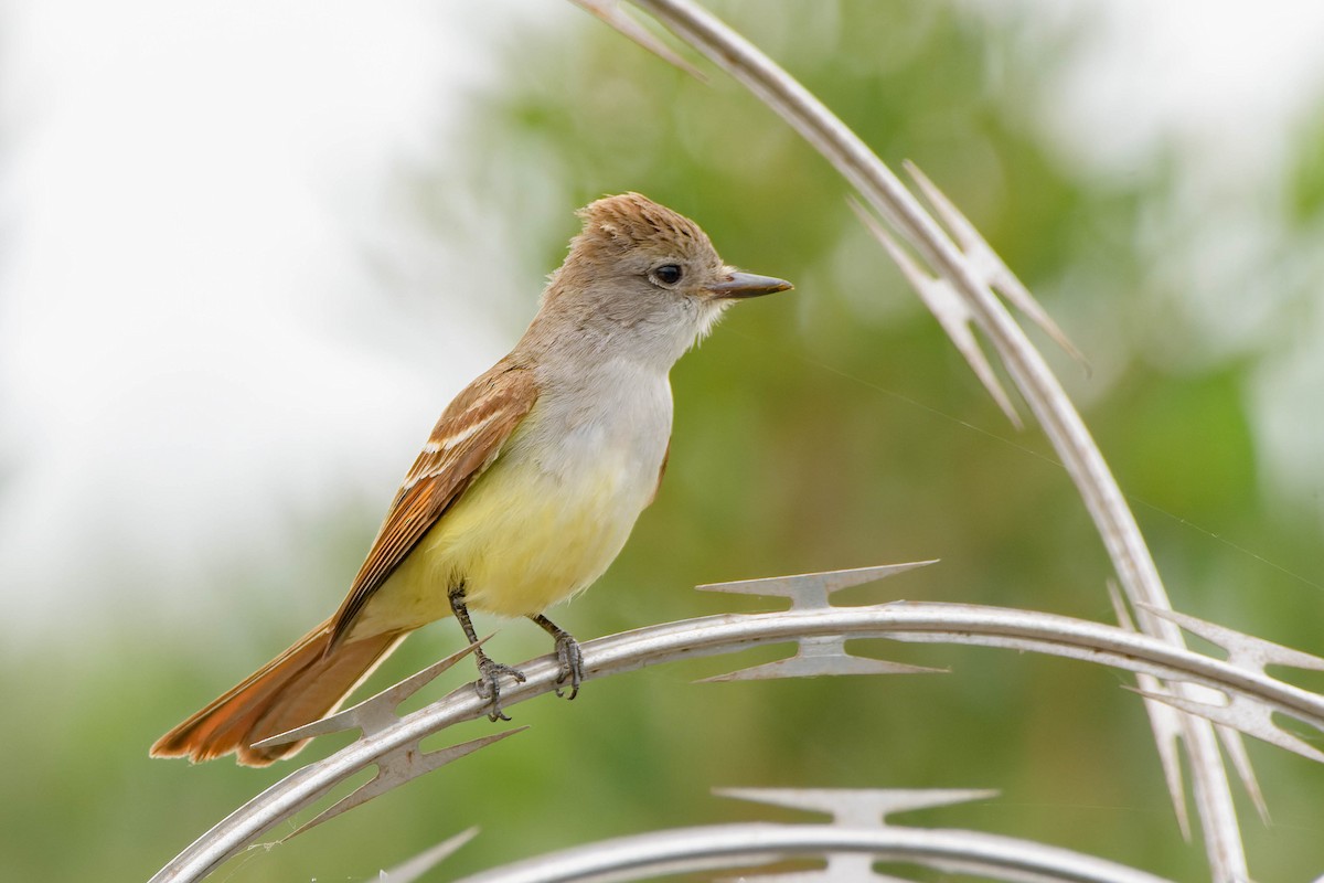
[[[731,303],[789,282],[739,273],[699,226],[638,193],[580,210],[584,230],[528,331],[442,413],[330,620],[152,745],[262,767],[303,743],[253,743],[340,706],[418,626],[469,609],[528,617],[556,639],[579,690],[579,645],[543,610],[588,588],[653,502],[671,434],[671,365]],[[475,651],[478,690],[499,676]]]

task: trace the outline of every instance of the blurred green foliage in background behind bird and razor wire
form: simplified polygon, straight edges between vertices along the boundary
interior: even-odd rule
[[[1030,42],[957,3],[718,9],[894,168],[916,160],[1107,364],[1090,379],[1053,356],[1088,402],[1087,422],[1137,503],[1177,606],[1319,650],[1324,593],[1292,576],[1319,572],[1319,526],[1296,518],[1256,469],[1247,379],[1262,352],[1219,356],[1190,326],[1155,327],[1153,304],[1176,295],[1147,273],[1140,230],[1172,197],[1170,165],[1098,180],[1033,120],[1070,38]],[[458,159],[455,144],[438,144],[438,167],[417,171],[420,217],[444,214],[448,192],[502,207],[520,232],[515,259],[536,279],[576,229],[569,209],[636,189],[698,220],[728,261],[797,290],[739,307],[677,368],[663,491],[606,577],[555,618],[588,638],[759,606],[688,589],[699,582],[940,557],[846,600],[1110,620],[1110,568],[1067,477],[1038,432],[1017,433],[1000,416],[855,221],[826,163],[720,74],[696,82],[587,19],[560,37],[507,36],[504,82],[475,97],[471,140]],[[1324,177],[1319,131],[1304,138],[1316,147],[1294,172],[1301,222],[1317,217]],[[532,295],[507,307],[511,340]],[[1156,357],[1156,340],[1200,357]],[[377,515],[369,503],[307,524],[324,535],[308,548],[335,567],[286,590],[332,605],[338,596],[322,597],[318,581],[327,569],[348,581]],[[266,624],[265,649],[189,662],[107,630],[62,649],[54,667],[34,659],[0,674],[15,720],[52,724],[9,727],[17,741],[12,797],[0,802],[0,878],[146,878],[286,774],[289,765],[148,761],[146,748],[305,625]],[[457,637],[451,624],[426,630],[373,683],[412,673]],[[1184,845],[1173,821],[1141,704],[1120,688],[1125,678],[997,651],[867,650],[953,673],[692,684],[739,665],[706,659],[592,683],[573,706],[548,698],[516,708],[530,732],[254,850],[216,879],[369,879],[470,825],[483,834],[430,879],[602,837],[779,817],[708,794],[753,785],[994,788],[998,800],[915,821],[1204,876],[1201,847]],[[544,651],[531,626],[512,624],[496,639],[511,662]],[[33,688],[38,670],[58,694]],[[1262,745],[1251,753],[1278,822],[1264,829],[1243,812],[1253,870],[1260,879],[1317,872],[1324,774]]]

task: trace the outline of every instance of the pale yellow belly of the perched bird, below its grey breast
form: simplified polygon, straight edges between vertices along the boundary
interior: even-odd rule
[[[376,592],[351,634],[412,629],[470,609],[532,616],[588,588],[620,553],[651,487],[638,465],[596,463],[560,482],[530,461],[498,459]],[[573,485],[568,487],[567,485]]]

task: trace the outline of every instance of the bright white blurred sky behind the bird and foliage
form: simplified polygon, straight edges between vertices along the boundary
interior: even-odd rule
[[[1104,23],[1045,109],[1102,172],[1176,134],[1193,192],[1249,191],[1324,82],[1319,0],[970,1]],[[289,555],[290,511],[385,504],[510,343],[483,293],[531,283],[473,241],[421,248],[392,175],[462,138],[483,46],[530,15],[594,26],[557,0],[0,1],[7,643],[158,594],[183,614],[220,549]],[[429,289],[438,327],[383,315],[392,286]],[[128,563],[142,594],[107,597]]]

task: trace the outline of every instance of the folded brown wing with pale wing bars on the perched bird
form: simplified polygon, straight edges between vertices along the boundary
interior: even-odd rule
[[[532,371],[499,361],[446,406],[405,475],[350,594],[335,614],[331,646],[409,551],[487,469],[538,400]]]

